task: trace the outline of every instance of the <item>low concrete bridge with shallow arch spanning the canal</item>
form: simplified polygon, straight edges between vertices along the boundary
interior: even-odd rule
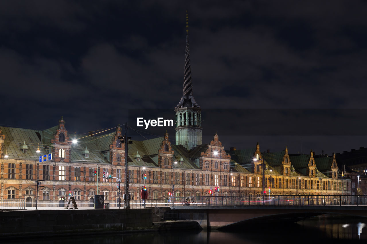
[[[234,230],[243,225],[297,222],[322,214],[344,214],[367,218],[367,206],[289,205],[289,206],[171,206],[179,220],[195,220],[203,228]]]

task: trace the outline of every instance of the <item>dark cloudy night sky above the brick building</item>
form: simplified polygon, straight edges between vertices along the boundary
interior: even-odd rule
[[[0,125],[44,130],[63,116],[69,133],[81,134],[125,123],[128,109],[174,116],[186,8],[193,95],[203,111],[367,108],[366,1],[126,2],[1,1]],[[256,136],[215,125],[203,133],[218,132],[226,149],[259,142],[261,151],[287,145],[330,155],[367,146],[365,134],[345,131],[274,136],[259,128]]]

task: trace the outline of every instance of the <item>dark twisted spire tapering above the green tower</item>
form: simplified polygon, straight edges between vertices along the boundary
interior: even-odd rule
[[[189,15],[186,9],[186,49],[185,49],[185,71],[183,73],[183,96],[175,108],[199,107],[192,96],[192,78],[190,64],[190,45],[189,45]]]

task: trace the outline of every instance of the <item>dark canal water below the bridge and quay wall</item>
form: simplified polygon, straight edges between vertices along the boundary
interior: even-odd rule
[[[268,225],[266,222],[255,226],[244,226],[237,233],[219,231],[197,232],[134,232],[127,234],[96,234],[80,236],[67,234],[57,237],[37,237],[21,240],[4,240],[0,243],[29,244],[110,244],[110,243],[149,243],[149,244],[269,244],[269,243],[367,243],[367,219],[339,217],[313,218],[291,225]]]

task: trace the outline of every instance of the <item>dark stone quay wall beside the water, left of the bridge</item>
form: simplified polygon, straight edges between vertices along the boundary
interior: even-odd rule
[[[154,229],[152,210],[32,210],[0,212],[0,237]]]

